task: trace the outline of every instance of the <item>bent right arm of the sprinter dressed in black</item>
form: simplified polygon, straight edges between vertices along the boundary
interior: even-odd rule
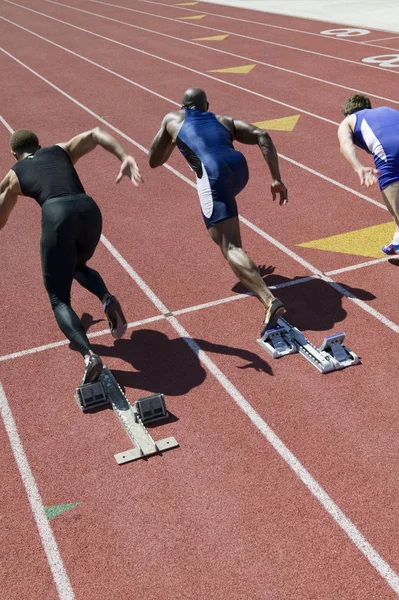
[[[122,163],[116,183],[119,183],[124,175],[129,177],[131,182],[136,186],[143,181],[133,156],[127,154],[123,146],[112,135],[103,131],[100,127],[79,133],[69,140],[69,142],[58,144],[58,146],[61,146],[61,148],[68,152],[73,164],[97,146],[101,146],[101,148],[119,158]]]

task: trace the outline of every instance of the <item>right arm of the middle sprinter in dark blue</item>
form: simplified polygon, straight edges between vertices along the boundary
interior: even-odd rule
[[[286,204],[288,202],[288,192],[281,180],[277,151],[272,138],[263,129],[259,129],[259,127],[255,127],[255,125],[246,121],[232,119],[232,122],[234,126],[233,135],[237,142],[259,146],[272,176],[271,192],[273,200],[276,199],[277,194],[280,194],[280,205]]]

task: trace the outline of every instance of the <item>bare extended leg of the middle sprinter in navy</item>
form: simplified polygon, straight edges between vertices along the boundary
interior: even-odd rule
[[[238,217],[216,223],[208,231],[241,283],[262,302],[265,311],[269,310],[275,296],[263,281],[254,261],[242,249]]]

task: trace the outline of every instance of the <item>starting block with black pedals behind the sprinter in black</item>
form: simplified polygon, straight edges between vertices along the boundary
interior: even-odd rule
[[[179,446],[174,437],[154,442],[145,427],[145,423],[154,423],[168,417],[163,394],[140,398],[132,406],[106,365],[103,366],[98,381],[77,388],[75,399],[83,412],[96,407],[112,406],[133,443],[132,449],[115,454],[118,465]]]

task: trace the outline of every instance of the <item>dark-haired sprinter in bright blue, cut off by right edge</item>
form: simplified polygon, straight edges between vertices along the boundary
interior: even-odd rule
[[[355,94],[345,102],[342,114],[345,119],[338,129],[341,152],[362,185],[370,187],[378,181],[396,225],[392,242],[382,251],[399,254],[399,110],[371,108],[366,96]],[[359,162],[355,145],[373,155],[375,168]]]

